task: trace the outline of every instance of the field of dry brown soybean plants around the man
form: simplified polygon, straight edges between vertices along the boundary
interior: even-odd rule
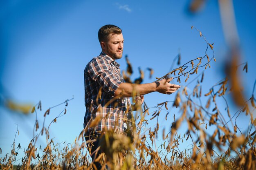
[[[134,114],[132,126],[127,132],[105,130],[104,135],[100,136],[99,148],[104,153],[97,159],[91,159],[90,141],[85,141],[84,134],[88,128],[97,126],[99,120],[104,120],[104,117],[92,119],[90,127],[86,126],[74,139],[73,144],[66,144],[55,141],[49,134],[49,129],[51,124],[61,121],[58,120],[59,117],[68,114],[65,107],[72,99],[47,110],[43,110],[41,102],[38,102],[31,110],[36,117],[39,112],[44,113],[44,118],[47,117],[54,107],[64,108],[49,125],[39,125],[36,118],[34,132],[38,135],[34,135],[24,149],[14,140],[10,152],[1,155],[0,169],[90,170],[95,167],[94,163],[98,162],[107,164],[111,170],[255,170],[255,84],[252,95],[247,98],[241,91],[239,77],[239,74],[247,73],[247,63],[238,63],[236,55],[231,53],[231,61],[225,66],[226,77],[212,84],[208,93],[202,94],[202,82],[207,76],[204,75],[204,70],[214,69],[211,68],[211,62],[218,61],[214,57],[214,44],[208,42],[195,27],[191,29],[205,41],[205,53],[202,57],[195,57],[184,64],[180,63],[181,55],[178,54],[173,59],[173,63],[177,63],[178,67],[171,68],[171,71],[162,77],[156,77],[155,81],[157,83],[161,79],[173,77],[173,81],[186,82],[186,86],[182,86],[175,93],[174,101],[157,99],[157,106],[148,106],[146,103],[137,106],[138,111]],[[125,81],[141,83],[144,72],[140,70],[140,77],[132,81],[132,65],[128,57],[126,62],[127,70],[123,72]],[[150,69],[150,74],[152,73],[153,69]],[[189,84],[194,84],[194,88],[189,88]],[[139,94],[134,94],[137,95]],[[220,101],[224,103],[224,108],[223,105],[220,106]],[[238,110],[231,112],[230,104],[236,105]],[[160,115],[165,117],[164,122],[169,124],[168,128],[160,128],[159,124],[163,122],[159,118]],[[247,129],[241,130],[237,125],[241,115],[248,119],[248,122],[245,122]],[[38,138],[45,139],[47,146],[38,146]],[[18,154],[22,155],[22,159],[17,165]]]

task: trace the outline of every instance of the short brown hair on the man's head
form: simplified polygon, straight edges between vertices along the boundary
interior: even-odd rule
[[[108,25],[102,26],[98,32],[99,42],[106,41],[108,39],[108,35],[110,35],[112,33],[121,34],[122,30],[118,26],[115,26],[115,25],[108,24]]]

